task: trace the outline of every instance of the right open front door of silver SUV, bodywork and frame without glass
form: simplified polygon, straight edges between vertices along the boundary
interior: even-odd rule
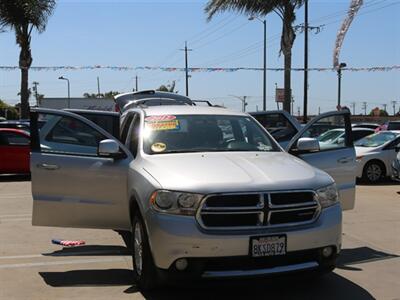
[[[296,153],[296,143],[299,138],[307,136],[307,132],[314,132],[313,126],[321,127],[322,120],[340,120],[342,118],[343,128],[346,136],[343,145],[335,145],[332,148],[324,148],[321,151],[311,153]],[[323,122],[322,122],[323,123]],[[330,124],[325,124],[330,128]],[[314,127],[315,127],[314,126]],[[324,145],[326,147],[326,145]],[[286,150],[308,162],[310,165],[327,172],[335,180],[339,190],[340,201],[343,210],[354,208],[355,203],[355,179],[356,179],[356,154],[352,142],[350,114],[347,111],[330,112],[322,114],[311,120],[292,139]]]

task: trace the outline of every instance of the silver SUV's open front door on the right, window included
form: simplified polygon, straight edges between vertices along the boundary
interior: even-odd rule
[[[330,131],[330,132],[329,132]],[[339,139],[319,139],[322,134],[345,133]],[[299,150],[299,140],[316,139],[317,151]],[[353,146],[350,112],[328,112],[317,116],[290,141],[286,151],[333,177],[343,210],[353,209],[355,202],[356,154]]]

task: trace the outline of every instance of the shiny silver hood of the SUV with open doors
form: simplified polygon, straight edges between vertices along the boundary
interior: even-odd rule
[[[316,189],[333,182],[286,152],[152,155],[143,168],[164,189],[198,193]]]

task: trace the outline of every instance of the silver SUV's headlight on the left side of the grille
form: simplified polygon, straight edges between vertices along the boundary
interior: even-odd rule
[[[159,212],[193,216],[202,198],[201,194],[160,190],[151,195],[150,202]]]

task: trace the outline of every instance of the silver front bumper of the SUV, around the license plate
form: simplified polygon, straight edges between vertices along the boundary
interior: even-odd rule
[[[301,227],[246,232],[226,231],[216,233],[204,231],[199,227],[194,217],[159,214],[152,210],[149,210],[146,214],[146,224],[154,262],[160,269],[171,269],[173,263],[179,258],[188,258],[189,262],[204,259],[207,261],[223,261],[229,258],[246,259],[249,258],[250,236],[286,234],[287,255],[280,258],[282,260],[281,265],[273,266],[279,268],[287,265],[285,260],[291,254],[314,251],[326,246],[335,247],[336,254],[339,253],[342,234],[342,210],[339,204],[326,208],[322,210],[314,223]],[[296,260],[293,265],[302,262]],[[205,267],[204,264],[201,265],[203,266],[203,274],[209,274],[207,273],[209,272],[207,264]],[[316,267],[316,265],[307,265],[303,268],[301,266],[299,265],[296,270]],[[210,270],[217,270],[214,269],[212,267]],[[224,271],[223,269],[223,265],[221,265],[220,271]],[[235,270],[230,271],[234,272]],[[252,272],[251,270],[248,271]]]

